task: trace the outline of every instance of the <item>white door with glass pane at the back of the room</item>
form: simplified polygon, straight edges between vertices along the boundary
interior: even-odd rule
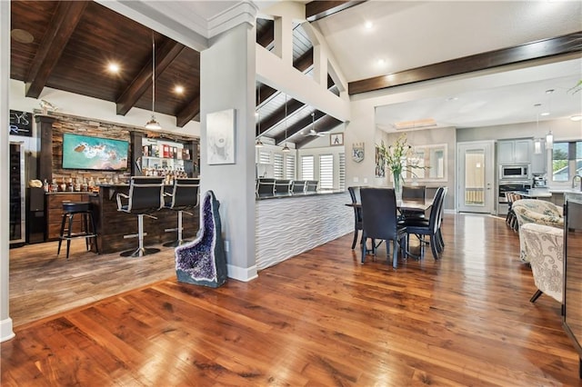
[[[493,142],[457,144],[457,211],[493,213],[495,160]]]

